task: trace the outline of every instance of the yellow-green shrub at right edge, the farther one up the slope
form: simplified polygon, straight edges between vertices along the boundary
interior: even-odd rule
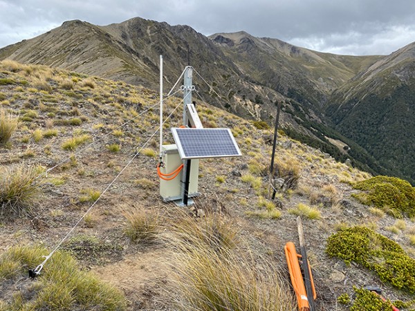
[[[355,195],[361,202],[391,211],[394,216],[415,216],[415,189],[406,180],[376,176],[357,182],[355,189],[365,191]]]

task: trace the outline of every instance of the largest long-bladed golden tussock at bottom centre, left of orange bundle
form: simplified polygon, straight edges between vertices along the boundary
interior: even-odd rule
[[[252,258],[246,249],[227,247],[216,239],[219,220],[208,215],[198,225],[181,225],[168,240],[172,245],[174,285],[179,310],[295,310],[293,295],[269,258]],[[223,234],[227,220],[221,218]],[[190,221],[189,218],[187,220]],[[196,234],[192,229],[196,229]],[[199,229],[197,229],[199,228]],[[257,267],[261,269],[257,269]]]

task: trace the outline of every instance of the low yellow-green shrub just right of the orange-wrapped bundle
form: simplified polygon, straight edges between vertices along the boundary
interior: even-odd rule
[[[415,294],[415,259],[400,245],[367,227],[340,230],[327,240],[326,252],[376,272],[383,282]]]

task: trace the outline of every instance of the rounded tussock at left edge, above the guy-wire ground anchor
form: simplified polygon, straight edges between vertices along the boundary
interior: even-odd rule
[[[40,193],[38,171],[26,164],[0,167],[0,214],[26,214]]]

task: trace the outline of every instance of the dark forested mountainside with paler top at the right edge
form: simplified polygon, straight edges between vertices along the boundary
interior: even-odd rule
[[[333,94],[335,128],[383,166],[415,182],[415,43],[363,71]]]

